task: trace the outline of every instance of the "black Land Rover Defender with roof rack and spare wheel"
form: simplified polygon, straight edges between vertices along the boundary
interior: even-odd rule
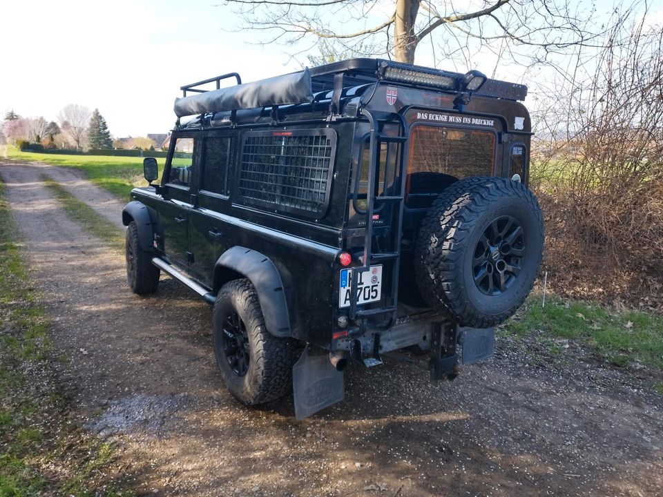
[[[439,380],[492,353],[544,242],[525,86],[351,59],[182,90],[161,184],[145,159],[122,213],[128,283],[164,271],[213,304],[236,398],[293,385],[302,418],[343,398],[348,360],[419,347]]]

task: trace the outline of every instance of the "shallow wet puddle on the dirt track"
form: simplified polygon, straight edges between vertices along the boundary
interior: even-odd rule
[[[137,431],[164,436],[169,426],[177,424],[178,412],[191,406],[193,398],[182,394],[136,394],[113,400],[101,416],[90,420],[88,428],[99,433],[101,438]]]

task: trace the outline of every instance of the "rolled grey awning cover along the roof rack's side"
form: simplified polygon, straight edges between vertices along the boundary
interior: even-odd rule
[[[175,115],[184,117],[223,110],[239,110],[274,105],[304,104],[313,101],[308,68],[175,99]]]

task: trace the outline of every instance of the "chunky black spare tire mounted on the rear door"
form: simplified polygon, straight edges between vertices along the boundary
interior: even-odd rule
[[[519,240],[524,254],[517,259],[520,271],[510,286],[491,295],[475,282],[479,274],[475,264],[481,257],[489,257],[476,254],[486,240],[484,232],[509,219],[519,223],[523,233]],[[461,179],[440,194],[421,224],[415,251],[416,282],[428,305],[461,326],[493,327],[513,315],[532,290],[543,244],[541,208],[526,186],[499,177]]]

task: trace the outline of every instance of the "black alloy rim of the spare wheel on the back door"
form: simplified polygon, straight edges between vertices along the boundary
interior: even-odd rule
[[[474,283],[486,295],[500,295],[515,283],[525,253],[521,224],[511,216],[498,217],[486,227],[474,249]]]

